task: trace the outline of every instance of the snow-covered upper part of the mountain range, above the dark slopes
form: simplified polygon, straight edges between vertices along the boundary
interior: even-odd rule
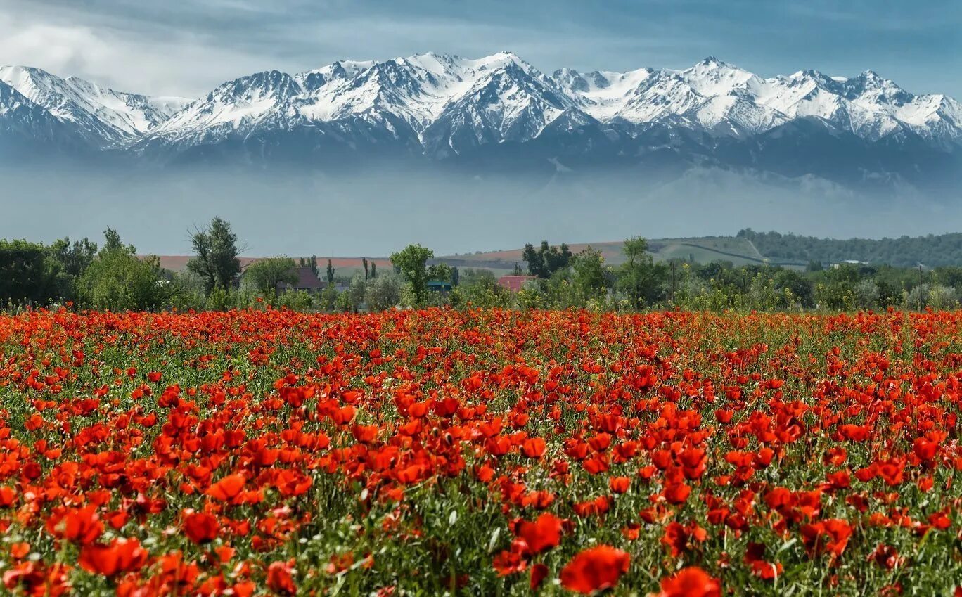
[[[547,76],[508,51],[476,59],[426,52],[342,60],[293,75],[253,73],[193,102],[114,91],[26,66],[0,67],[0,83],[10,87],[10,106],[30,103],[93,146],[141,151],[242,145],[283,134],[443,157],[582,128],[593,143],[658,126],[675,135],[748,139],[798,122],[799,131],[845,132],[869,142],[915,136],[937,147],[962,143],[962,109],[943,95],[913,95],[871,70],[852,78],[817,70],[763,78],[714,56],[682,70],[559,68]],[[804,124],[810,121],[823,127]]]

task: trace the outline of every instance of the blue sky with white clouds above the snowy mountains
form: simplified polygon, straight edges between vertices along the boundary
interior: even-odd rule
[[[962,97],[959,0],[0,0],[0,64],[196,96],[237,76],[426,51],[542,70],[873,69]]]

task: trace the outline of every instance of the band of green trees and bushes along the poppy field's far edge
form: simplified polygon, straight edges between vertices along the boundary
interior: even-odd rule
[[[754,242],[755,233],[743,231]],[[740,233],[740,234],[743,234]],[[770,235],[772,233],[766,233]],[[518,292],[500,286],[486,269],[428,265],[434,252],[420,244],[391,255],[379,272],[362,260],[362,271],[341,276],[330,260],[276,256],[241,268],[241,245],[226,220],[214,218],[190,234],[193,257],[184,271],[139,257],[113,229],[103,243],[63,238],[49,245],[0,240],[0,309],[73,303],[123,310],[226,310],[267,303],[304,311],[382,311],[449,305],[641,311],[857,310],[888,307],[948,309],[962,298],[962,267],[931,269],[811,261],[804,270],[770,264],[735,266],[728,261],[653,261],[645,238],[625,239],[621,260],[605,261],[591,247],[572,254],[566,244],[526,244],[530,276]],[[297,268],[310,269],[319,291],[293,290]]]

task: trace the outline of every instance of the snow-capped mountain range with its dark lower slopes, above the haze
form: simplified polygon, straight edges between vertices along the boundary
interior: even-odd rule
[[[684,70],[548,75],[508,52],[429,53],[256,73],[194,100],[3,66],[0,151],[28,149],[318,167],[371,157],[554,170],[707,162],[913,180],[958,169],[962,105],[873,71],[762,78],[715,58]]]

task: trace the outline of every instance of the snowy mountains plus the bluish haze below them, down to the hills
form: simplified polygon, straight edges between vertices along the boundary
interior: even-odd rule
[[[158,227],[238,211],[269,228],[278,209],[316,211],[332,230],[360,213],[383,245],[349,254],[749,226],[898,236],[962,225],[962,106],[873,71],[762,78],[715,58],[547,74],[512,53],[429,53],[255,73],[192,99],[3,66],[0,170],[5,194],[32,201],[10,206],[21,219],[0,236],[97,236],[114,218],[163,253],[184,247]],[[253,249],[325,249],[306,220],[286,225]]]

